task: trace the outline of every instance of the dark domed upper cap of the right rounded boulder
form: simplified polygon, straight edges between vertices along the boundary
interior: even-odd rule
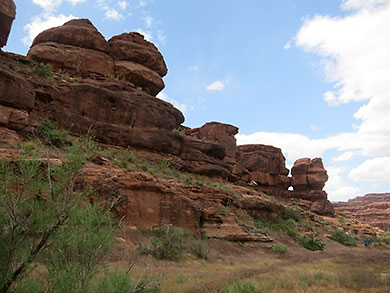
[[[167,72],[164,58],[155,45],[139,33],[123,33],[108,41],[110,56],[118,61],[132,61],[144,65],[164,77]]]

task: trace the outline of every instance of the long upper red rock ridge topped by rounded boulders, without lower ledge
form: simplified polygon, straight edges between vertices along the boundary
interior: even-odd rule
[[[3,14],[6,2],[0,1]],[[34,73],[36,62],[60,71],[47,81]],[[237,146],[235,126],[181,126],[183,114],[155,97],[166,73],[162,55],[142,35],[125,33],[107,42],[89,20],[71,20],[40,33],[27,58],[0,55],[0,139],[17,139],[51,120],[74,134],[169,157],[183,171],[246,182],[300,199],[319,214],[334,213],[322,190],[328,177],[321,159],[298,160],[288,177],[279,148]],[[76,79],[69,78],[73,74]],[[268,209],[257,205],[248,201],[253,213]],[[211,221],[206,212],[199,217]]]

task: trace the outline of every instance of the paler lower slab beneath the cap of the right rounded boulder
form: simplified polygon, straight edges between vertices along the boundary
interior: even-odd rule
[[[125,78],[152,96],[165,87],[157,72],[131,61],[115,61],[115,73],[118,78]]]

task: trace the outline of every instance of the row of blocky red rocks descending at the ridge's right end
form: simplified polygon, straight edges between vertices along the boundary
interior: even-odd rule
[[[333,215],[334,209],[323,189],[328,180],[321,158],[299,159],[289,177],[281,149],[261,144],[236,145],[238,128],[209,122],[185,133],[203,141],[221,144],[226,150],[224,161],[230,165],[233,180],[243,180],[261,190],[283,197],[299,199],[300,204],[321,215]],[[292,187],[293,190],[289,190]]]

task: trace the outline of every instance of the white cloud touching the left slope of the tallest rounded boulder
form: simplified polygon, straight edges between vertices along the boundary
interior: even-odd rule
[[[65,16],[63,14],[51,15],[43,14],[35,16],[32,22],[26,24],[24,30],[27,31],[27,36],[22,39],[23,43],[30,46],[34,38],[42,31],[51,27],[63,25],[65,22],[77,18],[73,15]]]

